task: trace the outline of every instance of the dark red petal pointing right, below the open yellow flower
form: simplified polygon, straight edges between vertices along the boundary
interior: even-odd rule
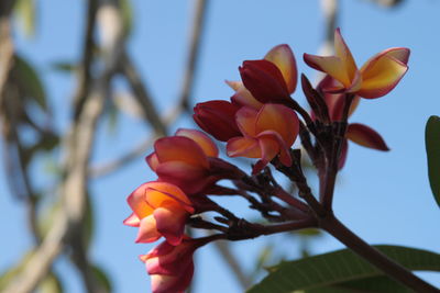
[[[382,136],[376,133],[373,128],[359,124],[352,123],[346,129],[346,138],[356,143],[358,145],[377,149],[377,150],[389,150],[388,146],[382,138]]]

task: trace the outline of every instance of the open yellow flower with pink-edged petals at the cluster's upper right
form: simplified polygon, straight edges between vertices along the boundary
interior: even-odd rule
[[[338,81],[334,87],[324,89],[328,92],[380,98],[393,90],[408,70],[409,49],[404,47],[383,50],[359,69],[339,29],[334,32],[334,56],[304,55],[307,65]]]

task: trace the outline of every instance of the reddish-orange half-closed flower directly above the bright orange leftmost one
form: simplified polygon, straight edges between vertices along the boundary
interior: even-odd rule
[[[186,194],[201,192],[220,179],[241,177],[237,167],[218,158],[219,150],[208,135],[180,128],[175,136],[154,143],[154,153],[146,162],[160,181],[179,187]]]

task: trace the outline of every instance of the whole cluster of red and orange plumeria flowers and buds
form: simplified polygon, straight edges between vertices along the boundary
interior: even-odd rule
[[[217,140],[226,143],[229,157],[257,159],[252,174],[220,159],[216,144],[200,131],[180,128],[174,136],[155,142],[146,162],[157,180],[142,184],[130,194],[128,202],[133,213],[124,221],[125,225],[139,228],[136,243],[165,238],[141,256],[152,275],[153,292],[183,292],[193,277],[194,251],[209,241],[248,239],[319,224],[316,209],[320,204],[324,206],[329,201],[326,198],[331,194],[322,184],[319,203],[310,200],[299,153],[292,149],[298,137],[320,174],[334,168],[338,171],[343,166],[348,140],[388,150],[375,131],[363,124],[349,124],[348,119],[361,98],[380,98],[396,87],[408,68],[409,50],[384,50],[359,69],[339,30],[334,34],[334,46],[336,56],[304,55],[306,64],[326,74],[316,88],[305,76],[301,78],[310,113],[290,98],[298,72],[288,45],[274,47],[263,59],[244,61],[239,67],[241,81],[227,81],[234,90],[230,101],[213,100],[195,106],[195,122]],[[297,183],[302,200],[276,183],[270,164]],[[219,185],[220,180],[230,180],[237,189]],[[288,225],[251,224],[208,198],[220,194],[243,196],[251,209],[267,219],[287,221]],[[200,216],[207,211],[221,215],[215,217],[218,223]],[[186,225],[217,229],[220,234],[193,239],[185,235]]]

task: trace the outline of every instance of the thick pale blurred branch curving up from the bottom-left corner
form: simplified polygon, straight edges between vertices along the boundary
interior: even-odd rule
[[[73,121],[65,139],[64,181],[61,187],[63,209],[55,215],[53,225],[42,244],[34,249],[24,270],[4,289],[4,293],[32,292],[47,273],[69,237],[75,235],[84,218],[87,196],[87,166],[90,159],[98,117],[107,97],[108,83],[117,71],[123,42],[112,48],[100,77],[94,82],[82,111]]]

